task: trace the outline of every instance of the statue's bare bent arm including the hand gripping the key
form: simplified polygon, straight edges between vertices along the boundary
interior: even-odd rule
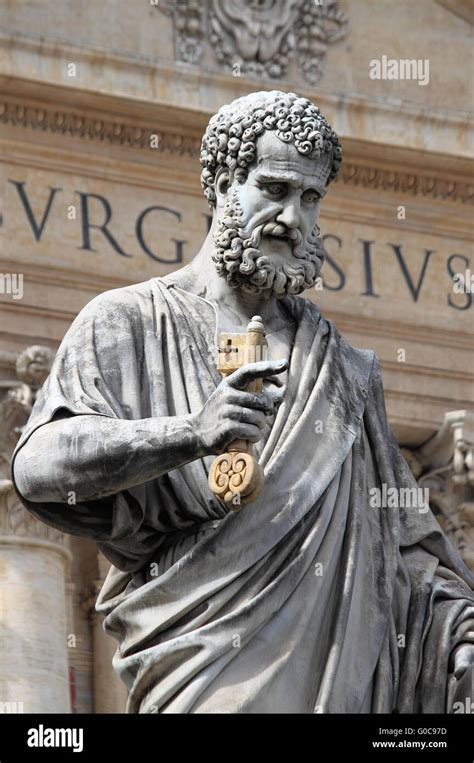
[[[257,442],[266,394],[243,391],[286,370],[286,360],[249,363],[223,380],[199,413],[149,419],[77,415],[37,429],[13,462],[20,495],[33,503],[81,503],[149,482],[240,439]],[[71,502],[71,493],[73,501]]]

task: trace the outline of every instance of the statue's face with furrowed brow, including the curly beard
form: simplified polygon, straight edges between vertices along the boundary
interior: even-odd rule
[[[302,156],[270,131],[257,148],[248,173],[229,176],[225,192],[217,188],[213,260],[232,289],[263,298],[301,294],[324,261],[317,220],[331,157]]]

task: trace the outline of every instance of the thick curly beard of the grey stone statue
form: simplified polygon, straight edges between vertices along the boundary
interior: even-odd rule
[[[263,223],[244,232],[241,218],[242,210],[234,193],[214,234],[212,257],[217,273],[226,279],[228,286],[264,298],[273,294],[281,299],[286,294],[301,294],[315,285],[325,255],[317,225],[303,241],[299,230],[286,230],[276,222]],[[264,234],[284,232],[294,241],[293,256],[276,266],[271,257],[261,252],[259,244]]]

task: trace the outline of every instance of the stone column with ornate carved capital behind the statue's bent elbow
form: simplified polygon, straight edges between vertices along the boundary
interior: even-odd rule
[[[3,382],[0,403],[0,712],[70,712],[66,536],[22,506],[10,480],[13,448],[53,353],[31,347]]]

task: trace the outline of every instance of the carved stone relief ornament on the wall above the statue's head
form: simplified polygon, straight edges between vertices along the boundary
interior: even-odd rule
[[[158,7],[173,18],[177,60],[198,64],[207,38],[234,74],[280,79],[295,58],[313,85],[330,43],[348,28],[338,0],[165,0]]]

